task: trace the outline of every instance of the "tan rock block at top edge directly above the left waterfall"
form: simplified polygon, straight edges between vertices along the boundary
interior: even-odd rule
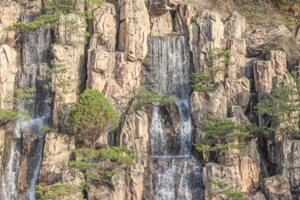
[[[43,7],[43,1],[33,0],[33,1],[20,1],[21,15],[37,15],[41,14],[41,9]]]

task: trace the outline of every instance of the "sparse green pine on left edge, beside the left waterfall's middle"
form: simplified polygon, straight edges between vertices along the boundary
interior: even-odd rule
[[[15,122],[18,119],[30,120],[28,110],[21,109],[25,104],[33,103],[32,98],[35,95],[35,88],[25,88],[14,90],[14,97],[0,98],[0,101],[12,106],[12,110],[0,109],[0,126],[9,122]]]

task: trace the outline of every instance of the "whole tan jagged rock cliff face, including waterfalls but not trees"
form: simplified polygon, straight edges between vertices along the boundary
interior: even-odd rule
[[[296,134],[295,140],[276,133],[252,138],[247,141],[245,155],[229,156],[219,164],[214,155],[196,152],[192,145],[206,137],[203,121],[214,116],[238,124],[264,125],[269,121],[265,116],[256,116],[254,106],[279,87],[277,82],[286,76],[288,62],[287,54],[281,50],[266,53],[264,43],[275,36],[291,35],[287,27],[246,32],[247,21],[235,11],[222,21],[217,12],[197,13],[192,4],[181,0],[112,0],[89,8],[93,11],[92,20],[74,13],[67,15],[76,19],[79,26],[89,25],[91,36],[87,45],[79,43],[86,38],[64,30],[63,26],[43,35],[47,41],[42,39],[43,45],[36,46],[43,46],[47,55],[30,60],[41,62],[38,66],[27,63],[25,57],[31,54],[22,53],[30,50],[25,42],[15,49],[7,46],[15,35],[4,28],[20,20],[21,15],[44,14],[45,3],[0,0],[0,98],[13,98],[13,89],[24,83],[35,87],[39,94],[30,107],[33,121],[22,129],[18,125],[0,127],[2,199],[34,199],[35,183],[47,187],[67,183],[74,190],[64,199],[84,196],[89,200],[220,199],[206,197],[214,191],[211,181],[216,180],[226,182],[225,189],[253,192],[246,196],[248,199],[292,199],[300,192],[300,143]],[[64,39],[63,44],[56,43],[58,38]],[[230,50],[230,59],[235,63],[227,74],[214,77],[216,84],[211,91],[191,89],[191,73],[203,71],[213,48]],[[75,103],[85,88],[97,89],[120,116],[119,128],[104,134],[99,142],[109,147],[126,146],[136,152],[137,158],[134,165],[106,184],[89,183],[82,187],[84,174],[68,166],[68,161],[76,159],[70,152],[76,148],[74,135],[38,131],[48,118],[52,125],[58,124],[57,108],[40,106],[44,100],[41,96],[55,93],[43,90],[47,81],[54,80],[41,78],[40,66],[48,67],[50,59],[61,61],[68,69],[64,76],[74,80],[72,92],[62,98],[61,105]],[[26,74],[26,70],[30,73]],[[126,113],[125,107],[132,102],[124,96],[130,96],[131,89],[143,84],[155,93],[175,95],[180,100],[169,106],[150,104],[143,111]],[[12,109],[3,101],[0,108]],[[69,111],[61,117],[66,125],[68,115]],[[270,124],[282,126],[273,121]],[[27,129],[39,134],[26,132]],[[18,131],[22,134],[18,135]],[[9,177],[5,171],[14,175],[10,189],[5,184]],[[125,175],[131,179],[119,180]],[[10,196],[4,194],[7,191]]]

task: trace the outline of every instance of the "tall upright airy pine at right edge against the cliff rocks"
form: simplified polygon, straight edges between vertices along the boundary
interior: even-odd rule
[[[258,103],[255,107],[257,114],[270,117],[265,124],[268,126],[271,120],[275,122],[276,128],[267,128],[277,131],[277,134],[287,135],[288,139],[293,132],[299,131],[300,98],[299,85],[296,83],[300,79],[293,78],[293,73],[288,71],[282,79],[278,81],[277,87],[270,93],[270,98]]]

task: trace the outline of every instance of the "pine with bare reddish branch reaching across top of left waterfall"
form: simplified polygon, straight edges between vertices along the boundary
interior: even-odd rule
[[[45,5],[46,15],[41,15],[37,20],[29,23],[16,22],[5,28],[8,32],[16,32],[16,39],[11,43],[11,47],[20,39],[21,35],[27,34],[40,34],[45,30],[55,30],[59,26],[64,28],[64,41],[67,41],[68,34],[70,32],[76,32],[76,34],[89,36],[88,32],[77,32],[79,28],[84,28],[87,25],[79,25],[78,20],[80,17],[84,19],[92,19],[92,11],[87,11],[87,8],[92,4],[101,5],[104,0],[88,0],[84,4],[79,5],[76,0],[52,0]],[[78,11],[78,7],[83,7],[84,12]],[[78,17],[68,18],[67,14],[74,13]]]

